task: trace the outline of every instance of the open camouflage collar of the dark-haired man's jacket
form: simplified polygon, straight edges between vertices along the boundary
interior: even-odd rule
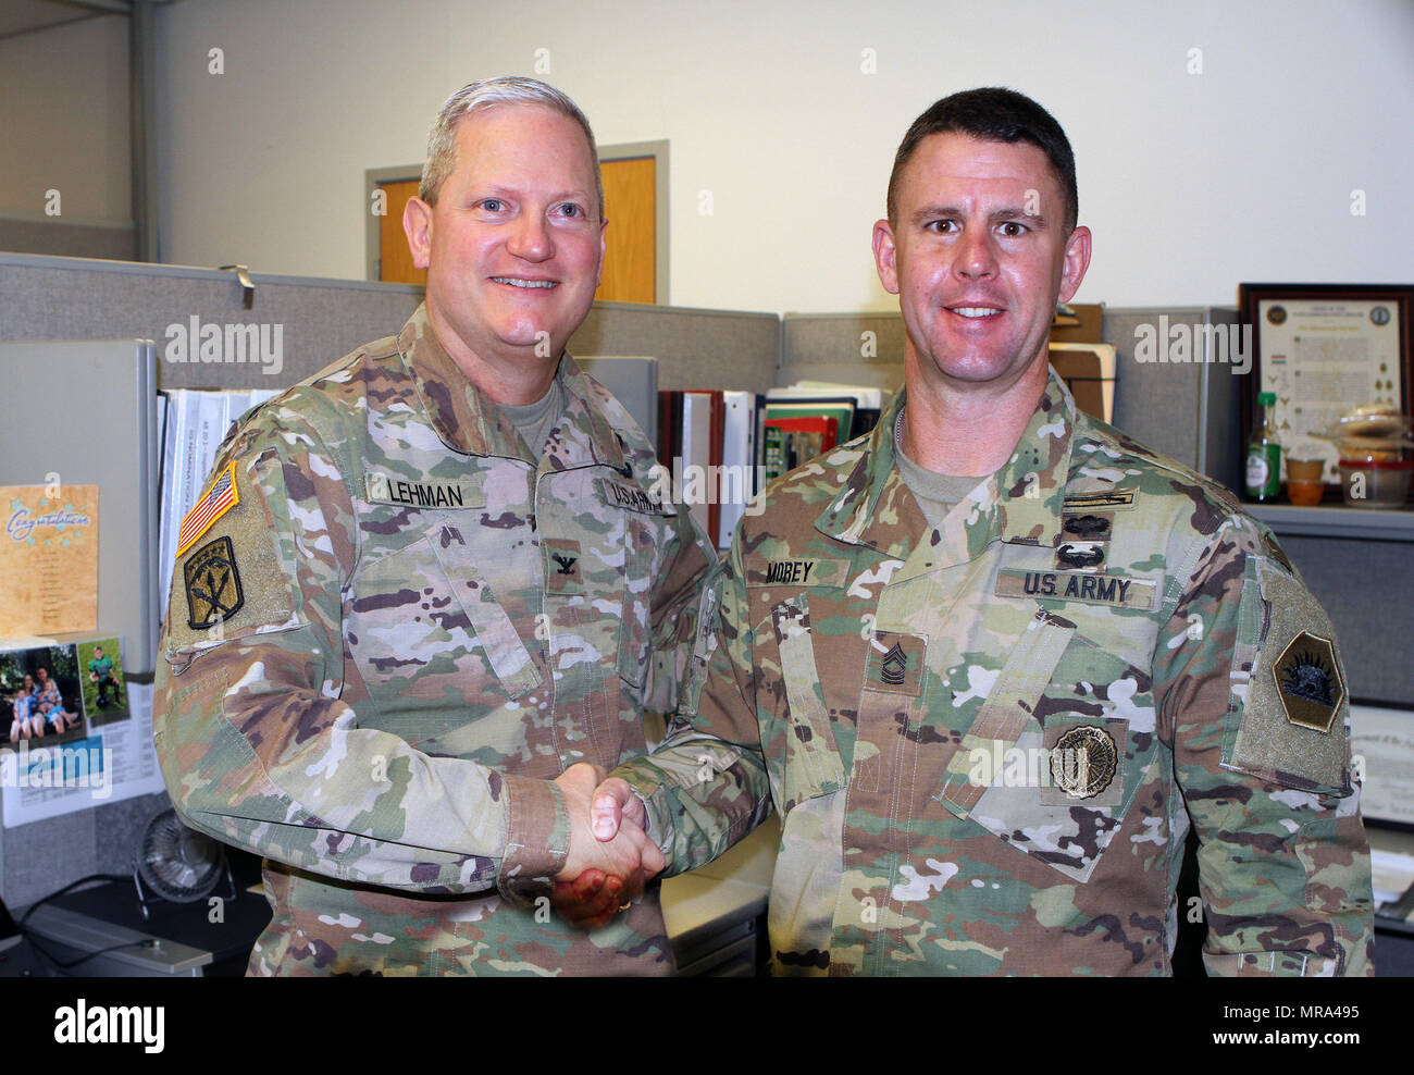
[[[922,511],[895,465],[894,423],[905,403],[906,393],[899,390],[844,487],[816,519],[822,533],[896,559],[906,559],[926,529]],[[1052,369],[1011,458],[959,505],[966,509],[960,533],[971,554],[998,538],[1019,545],[1059,540],[1075,414],[1075,400]]]

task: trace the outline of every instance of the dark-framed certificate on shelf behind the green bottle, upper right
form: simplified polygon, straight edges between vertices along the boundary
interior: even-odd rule
[[[1244,427],[1260,422],[1257,393],[1277,397],[1273,422],[1292,458],[1325,461],[1338,482],[1333,443],[1312,436],[1365,403],[1408,412],[1414,286],[1241,284],[1237,307],[1256,352]]]

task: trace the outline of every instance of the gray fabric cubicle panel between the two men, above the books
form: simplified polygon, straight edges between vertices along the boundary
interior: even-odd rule
[[[570,337],[571,355],[650,355],[659,390],[738,389],[776,383],[781,318],[690,307],[595,303]]]

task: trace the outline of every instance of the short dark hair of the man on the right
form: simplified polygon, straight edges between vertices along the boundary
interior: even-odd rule
[[[1080,192],[1075,185],[1075,153],[1055,116],[1025,93],[1005,86],[964,89],[935,102],[913,120],[894,156],[888,177],[888,219],[898,223],[898,184],[918,144],[929,134],[970,134],[984,141],[1027,141],[1046,154],[1065,194],[1065,231],[1075,231]]]

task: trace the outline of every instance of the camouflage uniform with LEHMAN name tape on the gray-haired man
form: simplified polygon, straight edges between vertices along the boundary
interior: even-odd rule
[[[223,444],[239,504],[178,557],[154,731],[184,819],[266,856],[252,973],[672,972],[656,890],[592,936],[533,900],[549,781],[646,750],[715,563],[624,407],[557,378],[527,451],[421,308]]]

